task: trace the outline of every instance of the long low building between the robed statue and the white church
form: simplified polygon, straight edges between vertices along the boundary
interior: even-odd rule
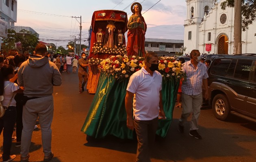
[[[158,55],[175,55],[183,47],[183,40],[145,38],[145,51]]]

